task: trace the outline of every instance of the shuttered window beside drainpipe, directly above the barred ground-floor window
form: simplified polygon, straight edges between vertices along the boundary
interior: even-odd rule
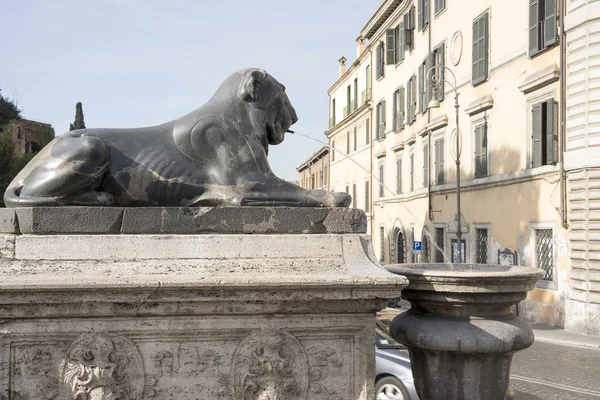
[[[558,160],[558,104],[554,99],[531,109],[531,167],[553,165]]]

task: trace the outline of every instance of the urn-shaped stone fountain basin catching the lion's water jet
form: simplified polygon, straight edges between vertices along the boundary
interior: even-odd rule
[[[533,343],[511,312],[543,271],[530,267],[415,264],[389,267],[410,281],[411,309],[392,321],[421,400],[504,400],[513,354]]]

